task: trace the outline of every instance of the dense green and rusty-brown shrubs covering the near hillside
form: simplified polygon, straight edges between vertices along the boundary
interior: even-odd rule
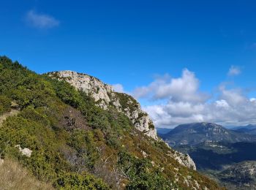
[[[138,132],[124,114],[102,110],[68,83],[0,57],[0,114],[11,109],[20,113],[0,126],[1,159],[18,161],[57,189],[187,189],[187,176],[191,186],[196,180],[218,188],[167,156],[164,142]],[[31,157],[15,145],[29,148]]]

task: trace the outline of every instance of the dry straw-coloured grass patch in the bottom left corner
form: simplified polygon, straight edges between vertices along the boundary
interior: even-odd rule
[[[30,175],[25,168],[12,160],[4,160],[0,164],[0,190],[34,190],[53,189],[50,184],[43,183]]]

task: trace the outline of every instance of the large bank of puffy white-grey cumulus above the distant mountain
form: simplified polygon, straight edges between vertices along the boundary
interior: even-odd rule
[[[225,126],[256,123],[256,99],[246,97],[242,89],[222,84],[214,96],[208,96],[199,87],[195,73],[184,69],[181,77],[159,77],[148,86],[136,88],[133,94],[151,100],[143,109],[158,127],[202,121]],[[158,99],[166,101],[159,104]]]

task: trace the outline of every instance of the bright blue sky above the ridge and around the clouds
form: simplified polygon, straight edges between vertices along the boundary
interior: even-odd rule
[[[227,90],[247,102],[256,96],[255,9],[256,2],[246,0],[3,0],[0,54],[39,73],[69,69],[99,77],[105,83],[119,83],[124,91],[138,97],[158,126],[205,121],[206,115],[203,119],[180,120],[187,117],[182,113],[172,122],[176,114],[167,105],[173,106],[177,101],[207,106],[221,100],[228,102],[223,95]],[[207,94],[208,98],[202,97],[203,103],[187,98],[175,100],[173,87],[166,89],[170,92],[166,96],[154,94],[156,89],[150,87],[151,83],[165,78],[164,84],[159,84],[165,87],[172,79],[182,80],[186,68],[185,76],[192,74],[191,79],[198,80],[198,84],[192,83],[195,92],[188,96]],[[238,73],[228,75],[232,68]],[[146,94],[138,95],[142,88],[147,89]],[[237,103],[228,105],[238,108]],[[156,106],[163,113],[157,113]],[[254,109],[247,108],[239,107]],[[167,117],[162,118],[163,115]],[[243,118],[233,114],[233,118],[240,116],[233,123],[221,118],[208,120],[225,124],[255,122],[252,118],[256,115]],[[167,122],[162,122],[168,117]]]

